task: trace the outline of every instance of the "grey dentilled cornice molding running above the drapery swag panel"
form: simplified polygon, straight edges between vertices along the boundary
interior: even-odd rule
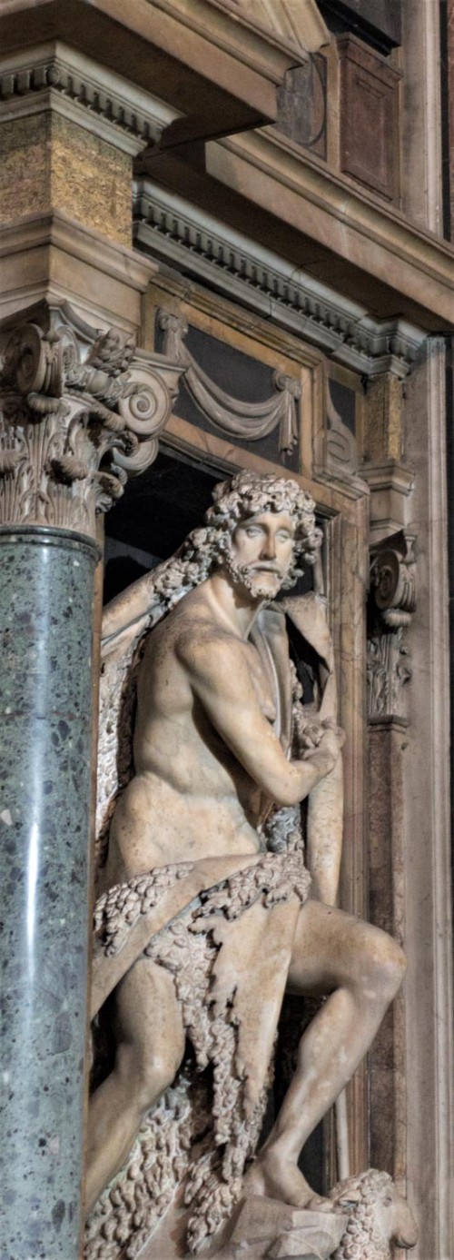
[[[135,184],[134,237],[154,258],[246,304],[364,375],[392,372],[404,378],[425,340],[425,333],[406,320],[371,319],[364,306],[149,179]]]

